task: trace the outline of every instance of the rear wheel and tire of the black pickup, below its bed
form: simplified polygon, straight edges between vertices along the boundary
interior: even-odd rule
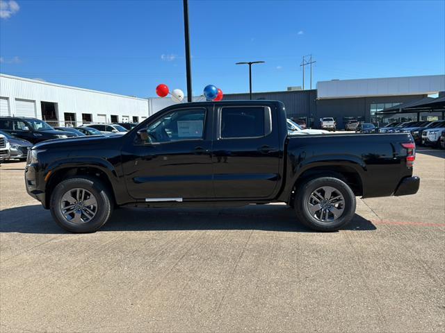
[[[329,195],[331,189],[333,189],[332,196]],[[316,203],[313,199],[315,196],[312,196],[314,192],[316,192],[318,198],[322,198],[324,193],[330,198],[341,196],[343,201],[340,201],[341,198],[332,201],[332,203],[324,203],[325,199],[320,200],[319,202],[327,207],[325,212],[321,213],[323,210],[318,210],[315,214],[312,214],[309,207],[316,209],[313,205]],[[322,195],[320,196],[320,194]],[[355,195],[346,182],[330,176],[312,178],[304,182],[297,190],[294,203],[298,221],[316,231],[336,231],[344,227],[353,219],[355,205]],[[335,216],[334,212],[339,216]],[[320,214],[323,214],[321,219]],[[323,216],[325,216],[325,221],[323,221]]]

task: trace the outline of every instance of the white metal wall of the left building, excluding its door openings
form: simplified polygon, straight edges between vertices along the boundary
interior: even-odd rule
[[[8,99],[10,115],[17,114],[16,99],[35,101],[35,117],[42,119],[40,101],[57,103],[58,120],[64,121],[64,113],[76,114],[76,121],[81,123],[82,113],[92,114],[92,121],[98,121],[97,114],[106,114],[110,121],[111,114],[138,116],[139,120],[149,116],[149,102],[131,96],[122,96],[108,92],[56,85],[38,80],[19,78],[0,74],[0,97]]]

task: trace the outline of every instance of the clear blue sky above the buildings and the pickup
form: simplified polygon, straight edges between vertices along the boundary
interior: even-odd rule
[[[445,1],[190,1],[193,94],[444,74]],[[1,1],[0,71],[117,94],[186,92],[182,1]],[[309,69],[309,67],[307,67]],[[307,76],[306,87],[309,87]]]

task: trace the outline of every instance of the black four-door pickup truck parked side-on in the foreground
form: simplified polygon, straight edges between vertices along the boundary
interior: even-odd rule
[[[352,219],[355,197],[415,194],[410,134],[287,135],[277,101],[181,103],[123,136],[43,142],[26,189],[71,232],[93,232],[113,207],[273,202],[321,231]]]

